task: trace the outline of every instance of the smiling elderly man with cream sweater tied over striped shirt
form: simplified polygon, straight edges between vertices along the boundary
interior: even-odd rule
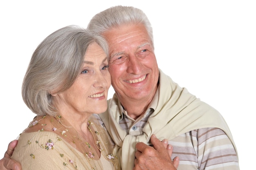
[[[157,146],[150,147],[155,134],[173,146],[179,170],[239,170],[236,146],[220,113],[158,68],[152,28],[143,11],[111,7],[95,15],[88,29],[109,44],[115,94],[100,117],[122,169],[173,168]],[[5,159],[7,167],[10,160]]]

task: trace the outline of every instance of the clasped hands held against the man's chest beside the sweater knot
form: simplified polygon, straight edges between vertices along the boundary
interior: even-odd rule
[[[136,144],[133,170],[177,170],[180,160],[178,157],[171,160],[173,147],[168,145],[168,140],[159,141],[155,135],[150,140],[153,147],[142,142]]]

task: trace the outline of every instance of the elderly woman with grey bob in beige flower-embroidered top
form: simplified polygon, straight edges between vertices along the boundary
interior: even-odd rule
[[[117,169],[97,115],[107,109],[108,46],[78,26],[49,35],[34,51],[22,97],[37,116],[12,159],[25,170]]]

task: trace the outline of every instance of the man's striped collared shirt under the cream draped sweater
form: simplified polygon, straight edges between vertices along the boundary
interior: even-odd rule
[[[143,127],[154,109],[134,120],[123,110],[119,124],[130,135],[142,135]],[[179,157],[178,170],[239,170],[234,146],[219,128],[201,128],[186,132],[169,141],[172,159]]]

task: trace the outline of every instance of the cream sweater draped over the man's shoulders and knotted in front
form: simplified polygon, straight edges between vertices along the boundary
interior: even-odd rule
[[[121,167],[132,170],[135,159],[135,144],[150,144],[150,136],[158,139],[173,139],[185,132],[199,128],[216,127],[222,129],[234,144],[227,123],[220,113],[181,88],[172,79],[159,70],[159,91],[157,107],[143,128],[143,135],[132,136],[119,125],[122,107],[117,95],[108,100],[108,110],[99,116],[115,142],[113,153],[120,159]],[[132,106],[131,106],[132,107]],[[125,168],[124,168],[125,167]]]

